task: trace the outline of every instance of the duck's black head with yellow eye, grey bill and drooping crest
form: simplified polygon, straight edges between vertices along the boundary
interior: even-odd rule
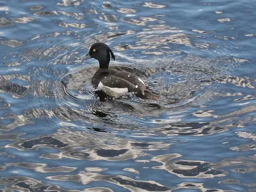
[[[90,58],[95,58],[95,60],[99,61],[100,68],[108,68],[110,56],[111,59],[115,61],[115,55],[108,47],[108,45],[102,43],[95,43],[90,48],[90,51],[84,56],[82,56],[80,60],[88,60]]]

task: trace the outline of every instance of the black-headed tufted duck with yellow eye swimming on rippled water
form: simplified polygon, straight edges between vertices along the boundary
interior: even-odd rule
[[[127,93],[134,93],[141,99],[159,99],[159,95],[150,90],[144,81],[132,72],[109,68],[110,59],[115,61],[116,58],[108,45],[100,42],[93,44],[90,51],[79,60],[84,61],[90,58],[99,61],[99,69],[92,77],[92,84],[105,96],[118,98]]]

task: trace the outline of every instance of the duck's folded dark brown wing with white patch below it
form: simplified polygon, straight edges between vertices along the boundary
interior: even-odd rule
[[[109,92],[113,92],[116,94],[124,95],[127,92],[134,92],[136,96],[143,97],[145,94],[144,90],[138,84],[133,84],[126,79],[116,76],[107,76],[101,79],[100,83],[98,84],[98,88],[104,88]]]

